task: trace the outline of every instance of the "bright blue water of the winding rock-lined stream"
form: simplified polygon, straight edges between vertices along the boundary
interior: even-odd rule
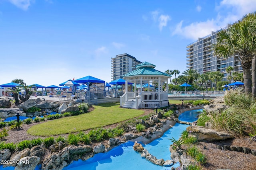
[[[202,112],[202,109],[185,111],[179,119],[182,121],[193,122],[197,120],[198,114]],[[147,145],[143,145],[148,152],[156,158],[164,160],[170,160],[169,147],[172,142],[169,139],[178,140],[181,132],[186,130],[189,125],[176,123],[172,128],[162,135],[162,137],[155,139]],[[140,157],[138,152],[133,149],[134,142],[127,142],[106,153],[95,154],[92,158],[82,161],[73,161],[72,164],[64,167],[63,170],[169,170],[170,167],[163,167],[152,164],[145,158]],[[174,164],[172,167],[180,166],[179,163]],[[41,166],[37,166],[36,170],[40,170]],[[11,168],[2,168],[0,170],[14,170]]]

